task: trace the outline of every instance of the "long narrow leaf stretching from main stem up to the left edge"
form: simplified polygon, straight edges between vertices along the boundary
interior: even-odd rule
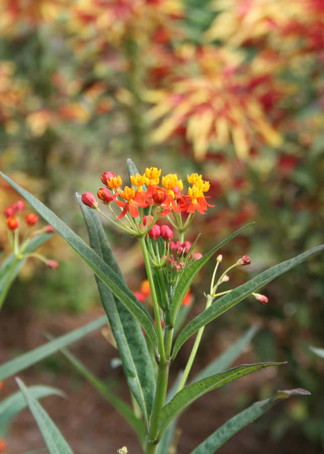
[[[70,227],[56,214],[41,203],[28,191],[17,185],[9,177],[0,172],[0,175],[44,218],[53,226],[55,231],[75,250],[75,252],[87,263],[93,272],[101,279],[111,292],[119,298],[127,309],[137,318],[147,333],[154,346],[157,345],[156,329],[152,317],[137,300],[135,295],[128,289],[124,281],[105,263],[98,254],[91,249]]]

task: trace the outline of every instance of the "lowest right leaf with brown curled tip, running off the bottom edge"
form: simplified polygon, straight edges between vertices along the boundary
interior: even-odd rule
[[[190,454],[213,454],[217,449],[222,446],[229,438],[231,438],[236,432],[241,430],[253,422],[256,418],[262,416],[265,411],[268,410],[272,404],[279,399],[287,399],[291,395],[307,395],[310,392],[304,389],[291,389],[288,391],[277,391],[272,398],[265,401],[255,402],[247,409],[235,415],[217,429],[212,435],[206,438],[196,449],[190,452]]]

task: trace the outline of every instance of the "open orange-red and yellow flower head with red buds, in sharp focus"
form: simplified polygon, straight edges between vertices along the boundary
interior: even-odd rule
[[[119,226],[135,236],[145,236],[149,231],[148,228],[143,228],[144,209],[149,212],[149,215],[153,215],[150,224],[151,229],[160,216],[168,216],[172,213],[173,220],[170,222],[179,232],[184,232],[197,211],[205,214],[208,206],[214,206],[206,201],[205,193],[209,190],[210,184],[203,180],[202,175],[191,174],[187,176],[188,183],[191,186],[185,194],[181,193],[183,183],[182,180],[178,179],[177,174],[163,176],[161,186],[159,186],[160,177],[161,169],[147,167],[143,175],[136,174],[130,177],[133,186],[122,188],[122,179],[119,175],[115,176],[113,172],[105,172],[101,176],[101,181],[105,186],[97,191],[97,197],[103,204],[109,206],[114,218],[120,221]],[[100,211],[98,199],[94,194],[85,192],[81,199],[88,207]],[[120,214],[117,215],[114,212],[111,202],[115,202],[120,208]],[[181,213],[187,214],[184,224]],[[128,225],[121,220],[123,218],[127,219]],[[137,219],[141,219],[140,224],[136,221]],[[151,235],[159,236],[158,233],[156,228]],[[162,233],[160,232],[160,235],[166,237],[169,234],[167,229]]]

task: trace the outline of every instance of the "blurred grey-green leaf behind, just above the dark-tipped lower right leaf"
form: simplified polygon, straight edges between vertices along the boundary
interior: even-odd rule
[[[250,343],[258,327],[251,326],[233,345],[231,345],[222,355],[208,364],[192,381],[199,381],[210,375],[218,374],[229,367],[242,353],[244,348]]]

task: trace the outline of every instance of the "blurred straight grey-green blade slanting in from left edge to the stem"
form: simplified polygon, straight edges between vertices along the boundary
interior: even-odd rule
[[[30,352],[24,353],[23,355],[14,358],[13,360],[7,361],[7,363],[0,366],[0,380],[4,380],[17,372],[26,369],[32,364],[37,363],[38,361],[46,358],[52,353],[61,350],[64,347],[72,344],[73,342],[78,341],[86,334],[95,329],[101,328],[101,326],[107,323],[107,317],[97,318],[96,320],[87,323],[81,328],[74,329],[68,334],[63,334],[60,337],[54,339],[54,341],[47,342],[46,344],[37,347],[36,349],[31,350]]]

